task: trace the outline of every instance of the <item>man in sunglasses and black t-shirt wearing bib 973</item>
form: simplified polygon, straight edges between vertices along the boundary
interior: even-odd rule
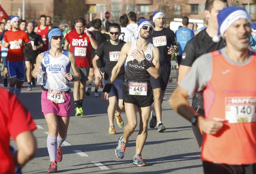
[[[100,71],[97,61],[102,60],[103,56],[106,59],[104,80],[108,83],[108,77],[112,72],[113,67],[115,67],[118,59],[120,58],[121,49],[126,42],[118,39],[121,33],[121,27],[118,24],[112,24],[109,27],[110,40],[102,43],[96,52],[95,57],[92,59],[92,64],[95,69],[95,77],[102,78],[103,73]],[[121,112],[124,109],[123,105],[123,83],[124,83],[124,66],[117,75],[116,80],[112,84],[111,91],[108,93],[108,121],[109,121],[109,134],[116,134],[116,129],[114,126],[114,115],[116,117],[116,123],[118,127],[122,128],[124,126],[124,121],[121,118]],[[106,100],[105,100],[106,101]],[[116,107],[116,102],[118,106]],[[116,111],[115,111],[116,107]]]

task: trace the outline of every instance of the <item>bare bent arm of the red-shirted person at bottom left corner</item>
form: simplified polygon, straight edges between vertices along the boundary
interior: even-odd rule
[[[36,138],[32,131],[20,133],[16,139],[18,152],[14,156],[15,166],[22,168],[36,154]]]

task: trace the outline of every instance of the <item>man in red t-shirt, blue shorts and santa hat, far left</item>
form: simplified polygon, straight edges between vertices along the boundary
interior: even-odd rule
[[[9,48],[6,57],[8,75],[10,78],[9,91],[19,97],[25,74],[24,48],[30,49],[31,44],[28,34],[19,29],[20,18],[18,16],[11,17],[11,25],[12,30],[4,33],[4,46]],[[27,43],[29,43],[29,45],[27,45]]]

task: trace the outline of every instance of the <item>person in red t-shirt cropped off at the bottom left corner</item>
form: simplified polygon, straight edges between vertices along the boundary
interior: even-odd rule
[[[0,88],[0,173],[14,174],[36,154],[36,125],[17,97]],[[16,141],[18,155],[10,153],[10,136]],[[22,154],[22,155],[21,155]]]

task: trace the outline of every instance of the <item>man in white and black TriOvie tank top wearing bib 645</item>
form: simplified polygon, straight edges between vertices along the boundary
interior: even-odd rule
[[[141,19],[138,26],[139,39],[124,44],[120,58],[113,68],[103,92],[105,92],[105,99],[108,99],[108,92],[111,91],[112,83],[115,81],[126,60],[123,100],[128,124],[124,127],[124,136],[121,136],[118,140],[116,156],[120,159],[124,157],[124,150],[128,144],[128,139],[137,126],[136,112],[139,109],[140,130],[136,139],[136,152],[133,157],[133,164],[147,166],[142,160],[141,151],[147,139],[150,106],[154,101],[150,75],[158,78],[160,65],[158,48],[148,42],[153,32],[152,23],[149,20]]]

